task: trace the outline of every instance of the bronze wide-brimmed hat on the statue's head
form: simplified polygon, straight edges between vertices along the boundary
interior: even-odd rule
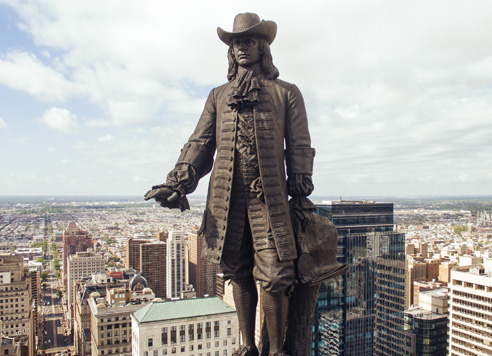
[[[242,36],[260,36],[266,39],[268,44],[272,44],[277,35],[277,24],[273,21],[260,20],[257,14],[246,12],[236,15],[232,32],[217,27],[217,34],[228,46],[234,38]]]

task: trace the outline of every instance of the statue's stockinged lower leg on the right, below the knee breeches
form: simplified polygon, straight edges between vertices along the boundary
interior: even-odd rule
[[[283,350],[285,327],[289,311],[289,297],[286,293],[262,293],[262,307],[270,341],[270,355]]]

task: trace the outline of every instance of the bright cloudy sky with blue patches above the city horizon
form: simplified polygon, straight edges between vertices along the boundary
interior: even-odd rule
[[[492,2],[0,0],[0,195],[141,195],[226,81],[239,12],[274,20],[315,195],[492,194]],[[205,194],[207,180],[196,194]]]

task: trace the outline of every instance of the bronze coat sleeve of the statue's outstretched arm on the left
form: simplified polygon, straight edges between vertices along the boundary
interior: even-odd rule
[[[195,131],[181,150],[175,168],[168,174],[168,184],[182,194],[193,192],[200,178],[212,170],[216,148],[215,127],[214,89],[207,98]]]

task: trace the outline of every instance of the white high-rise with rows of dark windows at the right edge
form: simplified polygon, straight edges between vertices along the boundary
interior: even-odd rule
[[[449,356],[492,355],[492,260],[451,271]]]

